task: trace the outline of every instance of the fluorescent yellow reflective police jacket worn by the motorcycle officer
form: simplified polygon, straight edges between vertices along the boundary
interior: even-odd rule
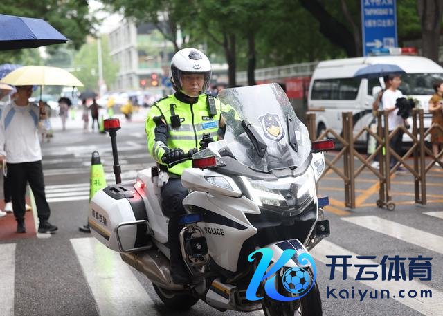
[[[183,94],[181,94],[183,95]],[[219,129],[219,120],[221,112],[221,102],[215,99],[215,106],[217,109],[216,115],[210,115],[208,105],[206,103],[206,94],[199,95],[198,99],[193,99],[197,102],[187,103],[183,100],[183,97],[177,93],[163,97],[158,102],[154,103],[150,112],[147,115],[145,131],[147,134],[147,149],[150,152],[152,158],[161,165],[165,165],[161,162],[161,157],[165,154],[164,147],[159,144],[155,136],[156,122],[159,122],[159,118],[167,124],[167,142],[166,145],[170,149],[180,148],[187,153],[192,148],[199,149],[203,134],[209,133],[210,136],[217,140],[217,131]],[[172,111],[174,113],[172,113]],[[173,127],[171,122],[171,116],[178,115],[180,120],[179,127]],[[183,169],[190,168],[192,162],[181,162],[178,165],[168,169],[172,174],[181,176]]]

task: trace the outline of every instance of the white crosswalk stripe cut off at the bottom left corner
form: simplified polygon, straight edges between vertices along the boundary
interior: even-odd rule
[[[1,316],[14,316],[15,243],[0,245]]]

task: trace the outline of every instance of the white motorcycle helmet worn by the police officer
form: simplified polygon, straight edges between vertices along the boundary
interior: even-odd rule
[[[171,82],[176,91],[181,90],[181,75],[183,73],[204,74],[203,91],[208,90],[210,82],[210,62],[208,57],[196,48],[183,48],[175,53],[171,60]]]

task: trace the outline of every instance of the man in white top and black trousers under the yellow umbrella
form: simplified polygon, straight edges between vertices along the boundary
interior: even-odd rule
[[[0,118],[0,161],[5,158],[12,191],[12,208],[17,221],[17,232],[26,232],[24,223],[26,183],[33,190],[39,229],[52,233],[57,226],[48,222],[51,211],[44,192],[42,149],[39,134],[46,118],[43,102],[39,106],[28,99],[33,86],[17,86],[17,97],[3,109]]]

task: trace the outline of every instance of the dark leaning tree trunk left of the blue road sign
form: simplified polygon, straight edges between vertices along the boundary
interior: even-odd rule
[[[361,56],[361,50],[356,50],[354,35],[345,24],[329,14],[318,0],[300,0],[301,5],[308,10],[320,24],[320,32],[332,44],[345,50],[347,57]]]

